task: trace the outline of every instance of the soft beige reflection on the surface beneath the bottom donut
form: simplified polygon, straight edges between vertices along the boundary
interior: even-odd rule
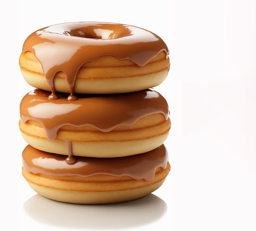
[[[130,202],[101,205],[69,204],[38,194],[24,203],[33,219],[72,229],[121,229],[154,222],[167,210],[166,203],[153,194]]]

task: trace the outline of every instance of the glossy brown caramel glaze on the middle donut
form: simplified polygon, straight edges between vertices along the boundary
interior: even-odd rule
[[[81,127],[90,125],[108,132],[120,125],[131,126],[140,118],[162,113],[166,120],[169,108],[162,95],[153,89],[132,93],[84,95],[69,101],[65,93],[58,93],[58,100],[49,100],[49,92],[35,89],[27,93],[20,102],[22,122],[40,122],[49,140],[57,137],[64,125]]]

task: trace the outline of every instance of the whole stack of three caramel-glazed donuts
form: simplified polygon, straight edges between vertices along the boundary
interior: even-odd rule
[[[20,102],[19,128],[28,143],[22,175],[34,191],[106,204],[163,184],[171,122],[153,87],[170,61],[159,36],[117,23],[56,24],[25,40],[19,64],[33,87]]]

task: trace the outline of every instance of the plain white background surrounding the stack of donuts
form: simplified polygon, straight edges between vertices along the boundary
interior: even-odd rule
[[[20,0],[0,11],[3,230],[256,230],[256,1]],[[21,175],[18,108],[33,89],[18,66],[22,44],[37,29],[76,21],[142,27],[170,49],[171,70],[155,89],[170,106],[172,167],[141,200],[54,202]]]

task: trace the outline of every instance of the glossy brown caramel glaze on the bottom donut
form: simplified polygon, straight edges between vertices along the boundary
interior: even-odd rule
[[[28,145],[22,152],[22,164],[27,172],[47,175],[114,175],[130,176],[135,180],[150,181],[158,167],[166,168],[168,152],[164,144],[138,155],[119,158],[76,157],[74,164],[67,164],[64,155],[40,151]]]

